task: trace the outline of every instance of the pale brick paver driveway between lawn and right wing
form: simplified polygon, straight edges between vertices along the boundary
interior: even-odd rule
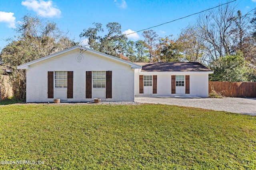
[[[153,98],[135,97],[135,102],[198,107],[256,116],[256,98]]]

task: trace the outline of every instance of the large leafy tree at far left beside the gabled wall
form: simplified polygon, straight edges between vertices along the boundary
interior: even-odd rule
[[[13,68],[13,82],[16,84],[15,87],[18,87],[15,95],[20,100],[26,95],[26,72],[17,70],[16,67],[70,48],[77,43],[62,33],[56,23],[33,16],[24,16],[16,32],[16,40],[2,49],[0,60],[4,65]]]

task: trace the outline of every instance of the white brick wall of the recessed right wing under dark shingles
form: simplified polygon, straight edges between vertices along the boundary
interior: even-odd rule
[[[157,75],[157,94],[152,96],[176,96],[172,94],[172,75],[190,75],[190,94],[186,96],[208,97],[208,73],[196,72],[141,72],[135,70],[134,83],[135,83],[135,96],[146,96],[146,94],[139,93],[139,75]],[[147,95],[148,96],[148,95]]]

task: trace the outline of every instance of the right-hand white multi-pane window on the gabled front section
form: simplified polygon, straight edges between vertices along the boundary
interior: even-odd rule
[[[106,88],[106,71],[92,71],[92,88]]]

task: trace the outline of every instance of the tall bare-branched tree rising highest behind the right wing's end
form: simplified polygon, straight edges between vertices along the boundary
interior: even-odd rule
[[[234,6],[226,4],[217,11],[211,10],[201,15],[197,25],[202,29],[202,37],[206,40],[206,54],[209,62],[231,54]]]

